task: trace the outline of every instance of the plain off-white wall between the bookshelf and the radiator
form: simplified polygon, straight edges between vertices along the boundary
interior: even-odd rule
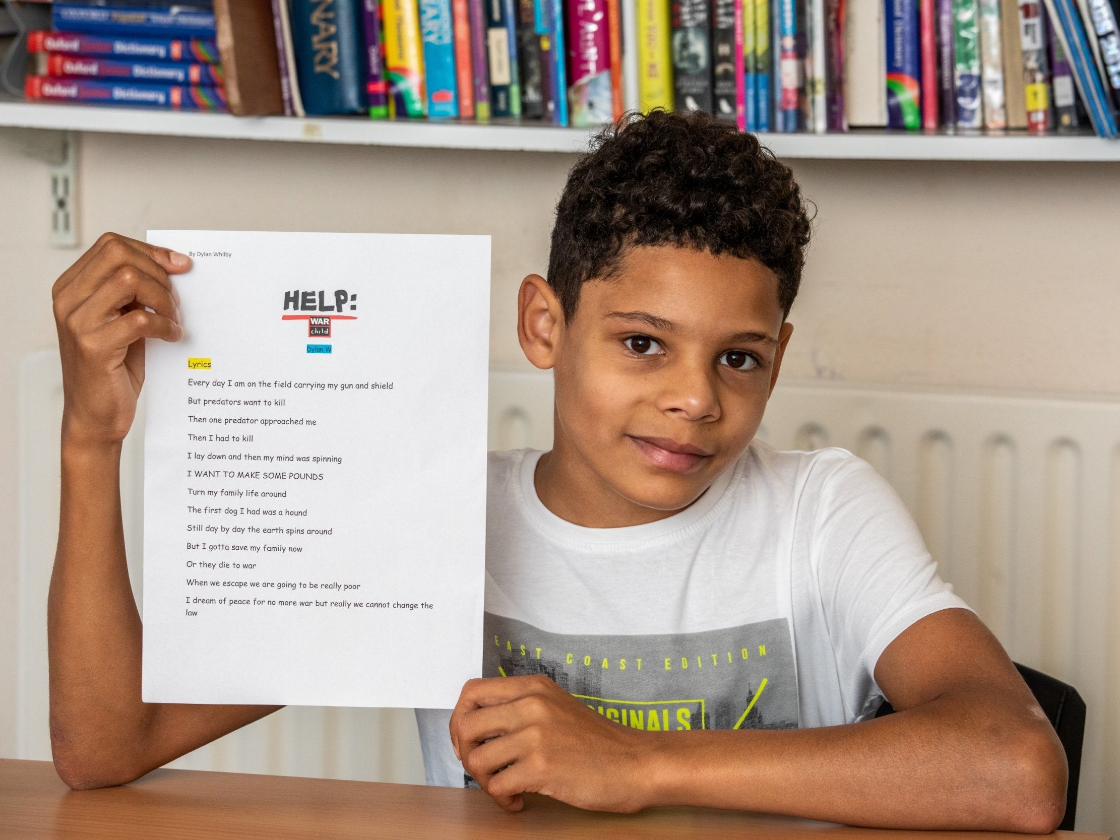
[[[544,270],[573,160],[87,136],[80,225],[84,244],[149,227],[488,233],[492,355],[517,363],[516,283]],[[1120,395],[1120,166],[792,162],[820,212],[786,375]],[[77,255],[47,248],[48,221],[46,167],[0,146],[0,756],[15,745],[17,365],[54,342],[50,283]]]

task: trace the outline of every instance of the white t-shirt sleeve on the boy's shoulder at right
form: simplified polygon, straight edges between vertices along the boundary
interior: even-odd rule
[[[887,645],[932,613],[970,607],[939,577],[894,488],[866,461],[837,455],[822,470],[812,551],[847,713],[859,720],[883,697],[875,666]]]

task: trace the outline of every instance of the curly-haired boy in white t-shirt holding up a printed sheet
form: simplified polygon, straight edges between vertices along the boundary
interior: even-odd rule
[[[491,457],[487,679],[450,713],[418,711],[429,782],[511,810],[539,792],[610,811],[1058,823],[1061,744],[897,497],[842,450],[752,442],[809,231],[792,172],[701,114],[631,119],[571,171],[549,278],[519,296],[521,345],[554,371],[553,447]],[[120,441],[142,339],[181,335],[168,274],[188,268],[106,234],[54,289],[52,739],[73,787],[129,782],[273,710],[140,701]],[[884,696],[898,713],[871,719]]]

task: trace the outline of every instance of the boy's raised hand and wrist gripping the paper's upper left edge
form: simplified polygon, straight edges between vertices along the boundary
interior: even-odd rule
[[[168,274],[189,268],[185,254],[105,233],[55,281],[64,441],[115,445],[128,435],[143,385],[143,339],[183,337]]]

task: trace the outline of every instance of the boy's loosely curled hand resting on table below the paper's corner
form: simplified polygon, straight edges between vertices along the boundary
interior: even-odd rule
[[[641,732],[594,712],[547,676],[469,680],[451,713],[463,767],[510,811],[522,793],[632,813],[648,804]]]

